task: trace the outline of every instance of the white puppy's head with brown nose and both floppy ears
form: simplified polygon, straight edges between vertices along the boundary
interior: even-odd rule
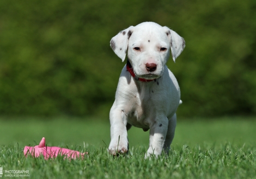
[[[185,41],[168,27],[143,22],[120,31],[111,39],[110,46],[122,61],[127,53],[136,76],[156,79],[162,76],[170,53],[175,61],[185,48]]]

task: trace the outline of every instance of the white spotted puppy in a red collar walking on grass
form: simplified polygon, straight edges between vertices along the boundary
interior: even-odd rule
[[[185,41],[175,31],[154,22],[143,22],[120,31],[111,39],[111,48],[122,61],[127,52],[110,111],[112,155],[128,151],[127,130],[131,126],[150,130],[145,157],[168,152],[172,143],[180,88],[166,62],[185,48]]]

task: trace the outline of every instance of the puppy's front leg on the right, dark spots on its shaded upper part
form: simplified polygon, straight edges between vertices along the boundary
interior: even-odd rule
[[[168,119],[163,117],[150,126],[149,132],[149,149],[145,154],[145,158],[154,154],[156,157],[161,154],[163,150],[164,140],[168,130]]]

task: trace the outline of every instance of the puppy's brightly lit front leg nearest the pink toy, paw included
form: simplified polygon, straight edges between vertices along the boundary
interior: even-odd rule
[[[110,111],[111,142],[108,150],[112,155],[125,154],[128,151],[127,117],[124,111],[112,107]]]

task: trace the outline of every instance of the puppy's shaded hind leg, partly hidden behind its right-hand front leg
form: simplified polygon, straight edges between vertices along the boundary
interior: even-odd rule
[[[166,140],[164,141],[163,150],[168,153],[170,150],[170,144],[173,141],[175,127],[176,127],[176,113],[172,117],[168,117],[168,130],[166,134]]]

